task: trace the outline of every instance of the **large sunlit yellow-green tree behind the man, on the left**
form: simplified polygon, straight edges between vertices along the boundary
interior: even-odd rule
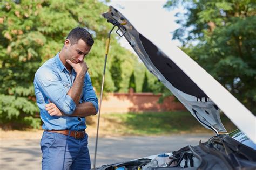
[[[86,27],[95,45],[85,61],[93,86],[100,91],[106,36],[112,25],[101,16],[107,6],[99,1],[12,1],[0,2],[0,123],[38,128],[40,119],[33,91],[33,77],[43,62],[63,46],[74,27]],[[112,34],[110,56],[119,56],[124,68],[133,68],[136,58],[118,44]],[[111,58],[110,58],[111,59]],[[110,60],[111,62],[111,60]],[[129,79],[125,72],[123,77]],[[110,65],[106,68],[106,91],[114,90]],[[37,115],[37,116],[35,116]]]

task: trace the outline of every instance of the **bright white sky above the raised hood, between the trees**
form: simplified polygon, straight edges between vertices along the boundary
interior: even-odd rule
[[[107,5],[111,5],[114,7],[122,8],[123,12],[125,12],[125,16],[128,20],[131,19],[133,22],[133,26],[136,27],[144,27],[145,30],[143,32],[147,32],[145,24],[148,24],[151,27],[151,30],[156,30],[156,32],[149,32],[147,34],[151,34],[156,37],[165,37],[172,41],[173,45],[180,46],[181,43],[178,40],[172,40],[172,32],[178,29],[180,26],[175,22],[177,17],[174,15],[177,12],[181,12],[181,8],[175,10],[168,10],[163,8],[163,5],[166,1],[158,0],[158,1],[149,1],[149,0],[140,0],[140,1],[116,1],[112,0]],[[123,13],[124,14],[124,13]],[[144,25],[144,26],[142,26]],[[120,44],[133,52],[133,49],[125,40],[124,37],[120,39]]]

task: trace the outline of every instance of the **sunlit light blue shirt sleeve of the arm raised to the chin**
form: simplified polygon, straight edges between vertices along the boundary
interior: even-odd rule
[[[65,114],[71,115],[76,109],[76,103],[67,95],[58,75],[51,69],[43,67],[35,74],[35,83],[42,93]]]

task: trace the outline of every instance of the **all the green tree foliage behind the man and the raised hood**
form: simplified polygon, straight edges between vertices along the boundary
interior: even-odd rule
[[[251,111],[256,112],[256,18],[250,0],[167,1],[165,8],[184,6],[177,13],[180,29],[173,39]],[[106,36],[112,25],[100,15],[107,11],[96,0],[6,0],[0,2],[0,124],[13,128],[40,126],[33,91],[36,70],[56,55],[74,27],[86,27],[95,45],[86,57],[93,86],[100,91]],[[137,56],[118,44],[112,34],[105,91],[135,91],[171,95]],[[132,73],[136,74],[132,74]],[[145,76],[147,75],[147,76]],[[134,77],[133,77],[134,76]],[[144,84],[144,87],[142,87]]]

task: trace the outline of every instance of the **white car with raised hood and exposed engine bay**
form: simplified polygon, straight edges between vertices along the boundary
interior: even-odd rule
[[[110,6],[102,15],[119,27],[120,36],[125,37],[149,72],[216,136],[198,146],[188,145],[171,153],[103,165],[99,169],[255,169],[255,116],[170,40],[144,34],[120,10]],[[220,134],[226,132],[220,110],[239,129]]]

